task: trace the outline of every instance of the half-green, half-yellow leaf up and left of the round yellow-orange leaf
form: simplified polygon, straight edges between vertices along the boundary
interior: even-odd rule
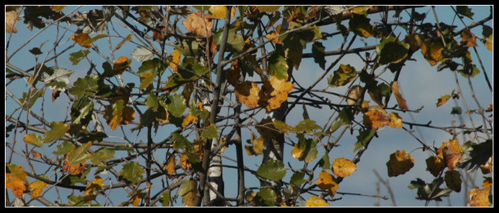
[[[311,138],[306,139],[303,133],[296,134],[296,137],[298,143],[294,144],[291,155],[300,161],[310,162],[315,160],[317,158],[317,142]]]

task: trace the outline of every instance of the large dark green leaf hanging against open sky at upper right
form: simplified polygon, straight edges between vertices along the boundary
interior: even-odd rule
[[[383,37],[379,45],[376,46],[376,53],[379,56],[379,63],[398,63],[407,57],[407,52],[411,45],[400,42],[395,37]]]

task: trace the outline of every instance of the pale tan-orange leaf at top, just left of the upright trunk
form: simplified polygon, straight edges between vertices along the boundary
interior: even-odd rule
[[[210,18],[212,19],[213,17],[207,14],[202,15],[202,12],[192,12],[182,24],[189,33],[196,33],[202,37],[210,37],[213,30],[213,22]]]

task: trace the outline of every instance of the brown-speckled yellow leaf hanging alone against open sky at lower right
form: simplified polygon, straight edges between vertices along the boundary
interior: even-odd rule
[[[388,167],[388,177],[399,176],[414,167],[414,158],[404,150],[397,150],[390,155],[386,167]]]

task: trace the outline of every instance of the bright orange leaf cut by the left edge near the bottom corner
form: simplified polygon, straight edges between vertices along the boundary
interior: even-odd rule
[[[5,173],[5,187],[12,189],[17,198],[22,198],[22,194],[26,190],[28,180],[26,179],[26,172],[23,171],[24,167],[15,164],[7,164],[8,171]]]

